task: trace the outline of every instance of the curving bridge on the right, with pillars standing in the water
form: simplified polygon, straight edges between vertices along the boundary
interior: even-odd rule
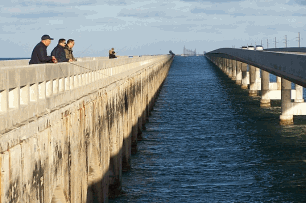
[[[281,124],[292,124],[294,115],[306,115],[303,86],[306,86],[306,49],[283,48],[264,51],[222,48],[206,57],[226,73],[250,96],[261,96],[260,106],[281,100]],[[277,76],[271,83],[269,73]],[[291,89],[291,82],[295,89]],[[293,102],[292,102],[293,100]]]

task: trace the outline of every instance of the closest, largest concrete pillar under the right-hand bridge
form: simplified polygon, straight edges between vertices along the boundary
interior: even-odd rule
[[[281,90],[281,101],[282,101],[282,114],[280,115],[280,124],[289,125],[293,124],[293,106],[291,102],[291,82],[282,78],[282,90]]]

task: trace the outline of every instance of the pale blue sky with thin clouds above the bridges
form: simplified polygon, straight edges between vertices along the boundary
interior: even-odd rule
[[[75,57],[182,54],[261,44],[306,46],[306,0],[11,0],[0,3],[0,58],[30,58],[41,36]]]

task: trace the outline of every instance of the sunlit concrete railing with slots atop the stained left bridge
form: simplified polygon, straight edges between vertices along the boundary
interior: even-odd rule
[[[166,58],[161,56],[82,58],[73,63],[0,66],[0,134],[37,119],[116,80],[116,75]],[[99,81],[98,83],[95,83]]]

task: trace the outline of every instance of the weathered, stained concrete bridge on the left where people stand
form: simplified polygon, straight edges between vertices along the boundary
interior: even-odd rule
[[[173,57],[0,62],[1,203],[107,202]]]

